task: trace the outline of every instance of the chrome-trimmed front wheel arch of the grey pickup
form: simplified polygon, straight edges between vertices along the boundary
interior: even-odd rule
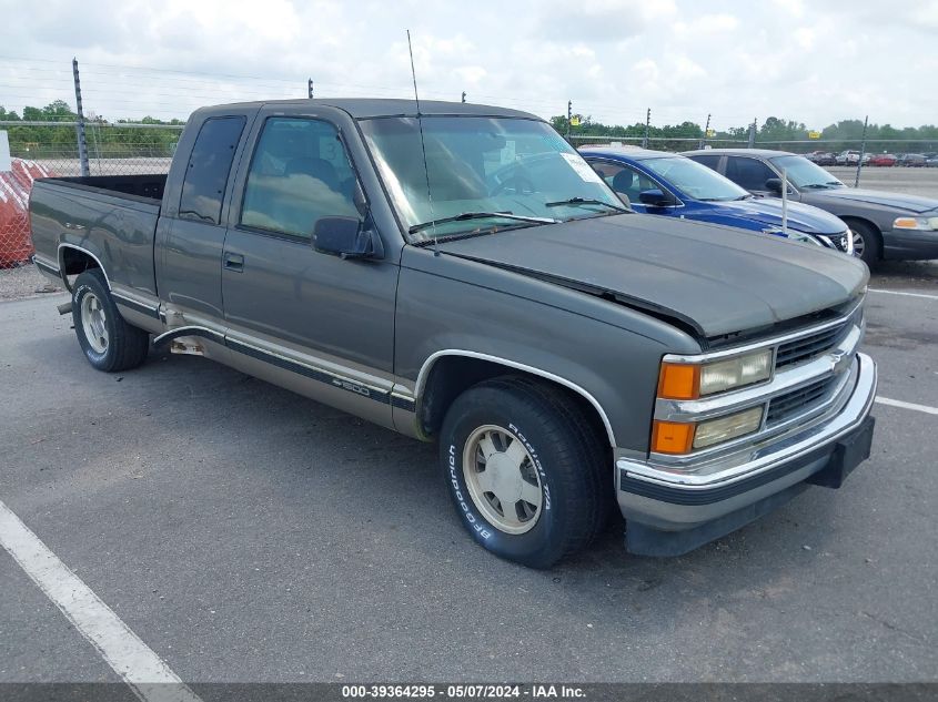
[[[415,411],[421,430],[434,435],[443,424],[446,410],[461,393],[498,376],[513,375],[546,381],[563,388],[581,403],[596,429],[616,447],[612,423],[599,401],[576,383],[548,370],[508,358],[464,349],[445,349],[432,354],[423,364],[414,387]]]

